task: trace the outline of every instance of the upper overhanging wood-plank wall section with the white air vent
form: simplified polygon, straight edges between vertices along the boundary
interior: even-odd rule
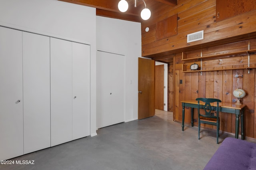
[[[174,14],[178,14],[178,34],[157,40],[156,24]],[[255,16],[256,10],[253,10],[216,22],[216,0],[178,0],[177,6],[152,11],[151,18],[142,22],[142,56],[154,58],[154,55],[168,51],[171,54],[181,52],[181,49],[244,40],[246,37],[242,35],[256,34]],[[146,27],[150,28],[149,32],[145,32]],[[187,34],[201,30],[204,30],[204,40],[187,43]]]

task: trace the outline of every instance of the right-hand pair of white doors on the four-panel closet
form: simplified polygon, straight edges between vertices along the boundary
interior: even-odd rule
[[[51,38],[51,146],[90,135],[90,46]]]

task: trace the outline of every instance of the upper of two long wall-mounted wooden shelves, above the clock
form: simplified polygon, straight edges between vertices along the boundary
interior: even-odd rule
[[[256,49],[251,49],[251,50],[244,50],[244,51],[237,51],[237,52],[232,52],[232,53],[221,53],[221,54],[216,54],[216,55],[206,55],[202,57],[193,57],[193,58],[187,58],[187,54],[185,52],[182,52],[182,61],[191,61],[195,59],[210,59],[210,58],[216,58],[216,57],[224,57],[224,56],[229,56],[229,55],[248,55],[248,53],[254,53],[256,52]]]

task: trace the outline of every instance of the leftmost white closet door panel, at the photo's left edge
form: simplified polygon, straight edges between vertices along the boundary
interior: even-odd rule
[[[0,27],[0,160],[23,154],[22,32]]]

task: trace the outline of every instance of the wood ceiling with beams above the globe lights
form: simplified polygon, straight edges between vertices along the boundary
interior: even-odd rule
[[[60,0],[64,2],[70,2],[73,4],[80,4],[84,6],[90,6],[96,8],[97,16],[105,16],[110,18],[117,18],[121,20],[143,22],[140,18],[140,12],[145,8],[144,2],[142,0],[126,0],[128,2],[129,8],[126,12],[120,12],[118,10],[118,2],[120,0]],[[158,11],[165,6],[176,6],[177,0],[144,0],[146,7],[150,9],[151,16],[154,11]]]

